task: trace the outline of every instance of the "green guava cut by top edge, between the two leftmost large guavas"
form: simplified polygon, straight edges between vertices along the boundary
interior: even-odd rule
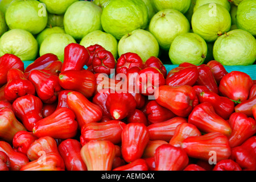
[[[39,0],[46,5],[46,9],[49,13],[62,15],[72,3],[79,0]]]

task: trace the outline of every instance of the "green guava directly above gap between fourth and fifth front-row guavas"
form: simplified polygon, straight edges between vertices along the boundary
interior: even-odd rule
[[[152,17],[148,30],[158,40],[160,48],[169,51],[177,35],[190,31],[190,24],[179,11],[166,9]]]

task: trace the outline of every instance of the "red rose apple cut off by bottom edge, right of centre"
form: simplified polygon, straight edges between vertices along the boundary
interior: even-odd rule
[[[162,144],[155,150],[155,171],[181,171],[189,162],[188,155],[180,147]]]

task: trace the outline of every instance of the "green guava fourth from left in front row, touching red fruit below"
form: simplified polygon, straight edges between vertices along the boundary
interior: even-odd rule
[[[124,35],[118,42],[118,55],[127,52],[137,53],[143,61],[159,55],[159,44],[149,31],[138,29]]]

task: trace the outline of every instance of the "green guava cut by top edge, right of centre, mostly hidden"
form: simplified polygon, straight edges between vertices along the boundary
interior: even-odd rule
[[[186,13],[191,5],[191,0],[153,0],[158,11],[164,9],[174,9],[181,13]]]

